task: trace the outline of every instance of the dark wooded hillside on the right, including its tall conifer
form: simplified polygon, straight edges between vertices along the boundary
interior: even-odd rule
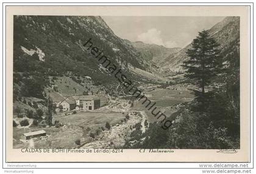
[[[170,116],[175,119],[168,130],[162,129],[161,122],[152,123],[145,133],[134,137],[138,142],[144,138],[142,143],[133,146],[127,144],[126,147],[240,149],[239,23],[239,18],[226,18],[207,31],[209,36],[206,36],[208,38],[205,41],[194,39],[193,44],[182,50],[183,58],[186,57],[187,61],[179,61],[185,65],[183,69],[187,79],[198,87],[191,89],[196,98],[183,103],[182,107]],[[216,42],[216,45],[213,42]],[[216,47],[215,50],[213,47]],[[202,48],[208,48],[208,52],[202,52]],[[221,61],[221,65],[212,64],[209,59],[205,59],[207,56],[210,56],[209,59],[218,58],[216,61]],[[205,80],[208,85],[202,86]]]

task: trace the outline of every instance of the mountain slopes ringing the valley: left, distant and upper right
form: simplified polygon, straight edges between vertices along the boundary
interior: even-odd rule
[[[208,30],[224,57],[239,49],[239,21],[239,17],[227,17]],[[155,68],[180,70],[191,47],[166,48],[121,39],[100,16],[14,16],[13,24],[13,87],[17,96],[42,98],[40,93],[52,83],[49,76],[67,76],[79,84],[86,79],[116,92],[116,79],[83,47],[90,38],[138,84],[154,82]]]

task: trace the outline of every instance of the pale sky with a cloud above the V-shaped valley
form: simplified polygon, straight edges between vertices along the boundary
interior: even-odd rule
[[[185,47],[198,32],[208,30],[225,16],[101,16],[115,35],[165,47]]]

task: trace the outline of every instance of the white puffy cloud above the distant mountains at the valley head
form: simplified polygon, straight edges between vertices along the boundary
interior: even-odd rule
[[[142,41],[146,44],[163,45],[169,48],[177,47],[177,43],[174,41],[164,42],[161,37],[161,31],[157,30],[156,28],[151,28],[147,32],[138,35],[138,41]]]

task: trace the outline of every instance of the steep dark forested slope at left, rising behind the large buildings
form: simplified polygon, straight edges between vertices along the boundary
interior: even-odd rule
[[[15,16],[13,23],[14,99],[44,98],[43,89],[54,84],[49,77],[67,76],[79,84],[89,78],[95,86],[116,89],[116,79],[83,47],[90,38],[134,81],[137,78],[130,75],[128,66],[147,66],[137,50],[99,16]]]

